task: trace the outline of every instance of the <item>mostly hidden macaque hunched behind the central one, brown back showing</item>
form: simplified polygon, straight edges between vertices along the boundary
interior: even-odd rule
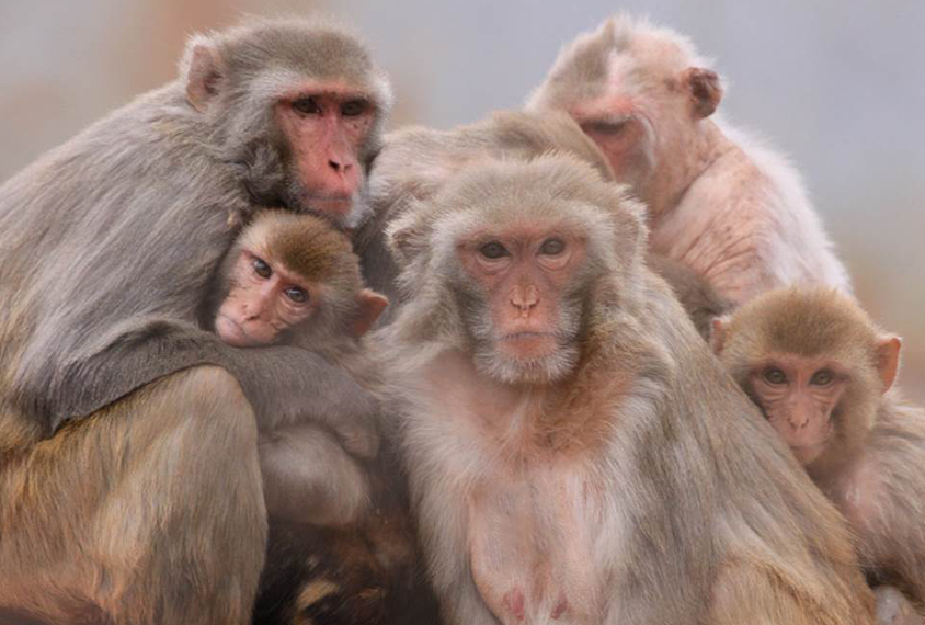
[[[390,300],[400,302],[398,269],[388,253],[384,231],[409,205],[433,197],[447,181],[480,160],[527,160],[548,152],[572,155],[605,180],[614,180],[603,152],[569,115],[560,112],[504,111],[452,130],[410,127],[387,135],[370,175],[373,217],[355,237],[369,284]],[[730,303],[681,263],[659,254],[649,254],[648,262],[671,284],[697,329],[707,337],[710,321],[728,311]],[[388,318],[392,315],[386,312]]]

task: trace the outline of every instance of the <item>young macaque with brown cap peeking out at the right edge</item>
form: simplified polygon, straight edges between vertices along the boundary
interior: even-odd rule
[[[785,289],[717,320],[712,342],[852,524],[870,580],[925,607],[925,411],[888,393],[900,339],[836,292]]]

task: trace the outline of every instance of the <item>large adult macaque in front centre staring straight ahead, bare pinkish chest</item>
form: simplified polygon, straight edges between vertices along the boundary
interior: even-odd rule
[[[449,623],[872,622],[844,521],[567,156],[473,164],[389,226],[381,330]]]

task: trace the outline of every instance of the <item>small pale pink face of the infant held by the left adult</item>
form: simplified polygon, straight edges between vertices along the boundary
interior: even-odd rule
[[[320,304],[313,285],[251,250],[241,251],[230,282],[215,329],[222,341],[239,348],[278,342],[283,332],[309,319]]]

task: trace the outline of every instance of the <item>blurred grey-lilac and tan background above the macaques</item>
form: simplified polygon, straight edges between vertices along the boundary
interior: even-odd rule
[[[242,12],[343,16],[392,76],[391,127],[448,128],[518,107],[562,44],[618,10],[716,59],[721,110],[799,166],[859,298],[905,339],[903,387],[925,400],[921,0],[0,0],[0,181],[171,80],[187,34]]]

